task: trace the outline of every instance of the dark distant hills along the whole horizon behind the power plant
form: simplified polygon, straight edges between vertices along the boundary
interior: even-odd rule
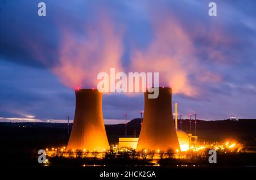
[[[195,134],[195,121],[191,121],[191,131]],[[256,119],[203,121],[197,120],[199,141],[221,141],[234,139],[241,143],[256,145]],[[110,144],[118,143],[125,136],[125,124],[105,125]],[[70,131],[72,124],[70,124]],[[178,121],[180,129],[180,120]],[[182,130],[189,132],[189,119],[182,120]],[[127,123],[127,136],[138,137],[141,131],[141,119]],[[67,123],[0,123],[0,141],[9,146],[67,144]],[[13,143],[11,141],[13,140]]]

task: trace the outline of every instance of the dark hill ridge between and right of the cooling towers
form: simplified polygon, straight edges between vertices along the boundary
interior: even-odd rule
[[[196,120],[197,135],[199,141],[220,141],[225,139],[234,139],[251,143],[256,143],[256,119],[239,119],[203,121]],[[109,139],[114,142],[118,137],[125,136],[125,124],[105,125]],[[180,129],[180,120],[178,120]],[[195,135],[195,120],[191,120],[191,131],[189,131],[189,119],[182,120],[182,130]],[[138,137],[141,132],[141,119],[133,119],[127,123],[127,136]]]

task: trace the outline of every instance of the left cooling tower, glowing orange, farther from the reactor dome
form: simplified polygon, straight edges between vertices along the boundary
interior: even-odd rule
[[[67,149],[98,152],[109,149],[102,114],[102,93],[97,90],[76,91],[75,119]]]

